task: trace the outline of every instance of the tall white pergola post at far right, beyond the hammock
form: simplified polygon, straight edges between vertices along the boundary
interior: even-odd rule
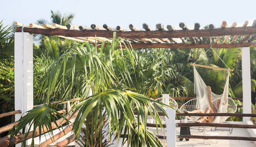
[[[243,113],[251,113],[250,47],[242,47]],[[250,117],[243,117],[243,122]]]

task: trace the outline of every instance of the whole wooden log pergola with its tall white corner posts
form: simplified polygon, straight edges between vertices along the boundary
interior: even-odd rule
[[[146,23],[143,23],[142,26],[145,31],[134,27],[132,24],[129,25],[131,31],[124,30],[120,26],[112,29],[106,24],[102,27],[95,24],[92,24],[90,27],[72,24],[60,26],[55,23],[42,26],[33,23],[30,23],[29,26],[18,22],[15,22],[15,24],[19,26],[16,28],[15,33],[14,53],[15,110],[20,110],[20,113],[15,113],[15,121],[18,121],[23,113],[33,109],[32,34],[57,36],[79,42],[88,41],[95,43],[95,40],[97,40],[100,43],[111,41],[113,33],[116,32],[117,37],[127,38],[126,42],[131,43],[133,48],[209,48],[210,44],[212,48],[242,47],[243,113],[251,114],[249,46],[255,45],[253,40],[256,37],[256,20],[253,21],[250,27],[247,27],[248,21],[245,21],[242,27],[236,27],[236,22],[227,27],[227,22],[223,21],[220,28],[215,28],[214,25],[209,24],[208,29],[202,30],[200,30],[199,23],[195,23],[194,30],[188,30],[186,24],[182,22],[179,24],[181,30],[175,30],[171,25],[167,25],[165,29],[163,24],[156,24],[157,30],[153,30]],[[225,36],[223,37],[224,41],[219,43],[222,36]],[[228,41],[228,39],[231,41]],[[245,125],[248,124],[247,121],[250,121],[250,117],[243,118]],[[20,140],[17,141],[16,139],[14,144],[18,142]]]

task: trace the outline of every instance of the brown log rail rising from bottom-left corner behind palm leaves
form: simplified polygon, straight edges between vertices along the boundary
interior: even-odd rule
[[[78,112],[76,112],[76,113],[71,117],[72,113],[70,113],[70,114],[66,117],[66,119],[68,119],[68,120],[69,120],[69,119],[72,119],[72,118],[74,118],[75,116],[77,116],[77,114],[78,114]],[[65,123],[67,122],[66,119],[60,118],[60,119],[56,120],[56,124],[57,124],[58,126],[56,126],[56,124],[55,124],[54,122],[52,122],[52,124],[51,124],[52,129],[56,129],[56,128],[59,127],[60,125],[65,124]],[[47,129],[46,127],[41,128],[41,133],[46,133],[46,132],[48,132],[48,129]],[[27,136],[27,139],[32,138],[32,135],[33,135],[33,131],[29,132],[29,134],[28,134],[28,136]],[[34,136],[36,137],[36,136],[38,136],[38,135],[41,135],[41,134],[39,134],[39,128],[37,127],[36,130],[35,130],[35,132],[34,132]],[[0,141],[0,146],[2,146],[2,147],[13,146],[13,145],[15,145],[15,144],[17,144],[17,143],[23,142],[24,139],[25,139],[25,136],[26,136],[26,134],[20,134],[20,135],[17,135],[17,136],[13,136],[13,137],[7,138],[7,139],[5,139],[5,140],[1,140],[1,141]]]

